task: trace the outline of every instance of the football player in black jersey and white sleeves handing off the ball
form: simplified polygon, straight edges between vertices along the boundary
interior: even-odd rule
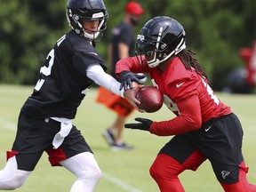
[[[78,106],[93,82],[125,95],[133,104],[139,102],[134,91],[119,91],[120,84],[105,73],[104,61],[92,45],[103,36],[107,18],[102,0],[68,0],[67,19],[72,29],[49,52],[34,92],[21,108],[12,151],[7,152],[7,163],[0,172],[0,189],[19,188],[44,151],[52,166],[62,165],[76,175],[70,191],[95,187],[101,175],[99,165],[72,124]]]

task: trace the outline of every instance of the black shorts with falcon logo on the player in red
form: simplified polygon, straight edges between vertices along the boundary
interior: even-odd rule
[[[239,164],[244,161],[242,140],[242,126],[236,115],[230,114],[210,119],[198,131],[174,136],[159,153],[184,164],[189,156],[199,151],[211,162],[217,179],[231,184],[238,181]]]

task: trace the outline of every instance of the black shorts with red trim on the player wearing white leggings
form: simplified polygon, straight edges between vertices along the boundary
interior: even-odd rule
[[[44,151],[48,153],[52,166],[60,165],[60,161],[83,152],[92,153],[92,149],[74,125],[60,148],[53,149],[52,140],[57,132],[60,132],[60,122],[49,118],[32,118],[21,112],[12,146],[18,169],[33,171]]]

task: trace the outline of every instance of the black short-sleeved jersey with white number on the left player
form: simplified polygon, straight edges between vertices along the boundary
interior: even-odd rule
[[[69,31],[48,54],[34,92],[21,110],[36,118],[75,118],[77,107],[93,83],[86,76],[86,68],[94,64],[107,70],[92,44]]]

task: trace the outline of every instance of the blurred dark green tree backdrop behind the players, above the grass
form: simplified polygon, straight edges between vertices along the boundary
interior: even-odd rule
[[[105,0],[108,29],[97,50],[107,62],[111,30],[129,1]],[[187,33],[187,47],[220,92],[255,92],[255,0],[140,0],[146,10],[136,34],[157,15],[170,16]],[[0,84],[36,84],[52,45],[70,29],[67,0],[0,0]],[[107,63],[108,64],[108,63]],[[108,64],[109,65],[109,64]]]

